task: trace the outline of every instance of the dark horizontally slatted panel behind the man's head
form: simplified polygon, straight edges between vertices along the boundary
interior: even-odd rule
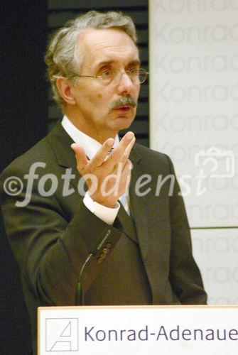
[[[122,11],[131,16],[136,24],[141,66],[148,70],[148,0],[49,0],[48,33],[53,33],[66,21],[90,10]],[[62,117],[62,113],[52,99],[49,88],[49,128]],[[148,146],[148,82],[141,87],[136,120],[131,126],[136,133],[136,141]],[[121,132],[124,134],[125,132]]]

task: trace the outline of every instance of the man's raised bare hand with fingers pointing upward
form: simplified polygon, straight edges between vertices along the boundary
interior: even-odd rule
[[[114,144],[114,139],[108,138],[91,160],[87,159],[84,149],[79,144],[72,144],[77,170],[85,178],[92,200],[107,207],[115,207],[129,183],[131,175],[129,154],[135,140],[134,133],[127,132],[119,146],[108,156]]]

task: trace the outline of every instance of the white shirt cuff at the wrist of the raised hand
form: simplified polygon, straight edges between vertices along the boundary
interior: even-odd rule
[[[95,216],[102,219],[103,222],[107,224],[114,224],[114,220],[116,219],[120,208],[120,204],[118,202],[114,208],[106,207],[103,204],[99,204],[92,200],[90,194],[86,192],[83,203],[93,214],[95,214]]]

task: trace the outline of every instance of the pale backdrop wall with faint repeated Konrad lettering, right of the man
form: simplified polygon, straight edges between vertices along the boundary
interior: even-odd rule
[[[150,141],[175,165],[209,302],[238,303],[238,3],[149,2]]]

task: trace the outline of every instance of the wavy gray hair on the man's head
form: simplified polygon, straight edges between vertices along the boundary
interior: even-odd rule
[[[89,11],[85,15],[77,16],[74,20],[68,21],[63,28],[60,28],[48,44],[45,63],[48,67],[48,78],[53,89],[54,99],[63,110],[65,101],[58,92],[56,80],[58,77],[67,77],[74,80],[79,75],[82,55],[77,45],[77,38],[88,28],[119,28],[129,35],[136,44],[134,22],[129,16],[125,16],[121,12]]]

